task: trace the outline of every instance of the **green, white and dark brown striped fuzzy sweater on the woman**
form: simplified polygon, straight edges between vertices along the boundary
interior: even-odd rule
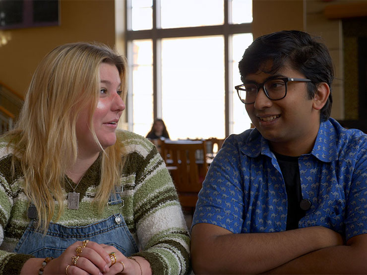
[[[122,216],[150,262],[153,274],[186,274],[190,270],[190,238],[178,201],[176,189],[155,146],[147,139],[127,131],[117,131],[118,140],[127,152],[121,177],[124,207]],[[23,192],[23,176],[11,174],[12,150],[0,138],[0,274],[19,274],[31,255],[11,253],[26,229],[28,199]],[[83,176],[76,192],[79,209],[68,210],[65,186],[65,210],[57,221],[65,226],[85,226],[112,215],[107,207],[99,213],[92,204],[100,180],[100,159]],[[115,212],[118,213],[118,212]]]

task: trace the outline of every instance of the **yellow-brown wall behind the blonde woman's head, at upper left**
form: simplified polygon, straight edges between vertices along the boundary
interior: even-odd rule
[[[61,0],[61,25],[14,29],[0,46],[0,82],[25,93],[38,62],[58,45],[98,41],[115,45],[114,0]]]

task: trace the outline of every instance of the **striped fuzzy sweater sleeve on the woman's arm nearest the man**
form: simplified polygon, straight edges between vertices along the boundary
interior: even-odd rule
[[[156,147],[140,140],[146,154],[136,166],[133,220],[140,252],[153,274],[190,271],[190,237],[175,186]]]

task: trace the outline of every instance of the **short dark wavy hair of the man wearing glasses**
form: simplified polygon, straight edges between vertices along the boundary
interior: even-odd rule
[[[327,120],[332,105],[331,83],[334,69],[329,51],[317,40],[302,31],[280,31],[255,39],[239,63],[242,82],[247,74],[259,70],[274,74],[289,62],[293,69],[312,80],[307,83],[308,99],[314,97],[318,83],[325,82],[329,85],[330,95],[320,112],[320,120]],[[265,71],[268,61],[272,62],[272,67]]]

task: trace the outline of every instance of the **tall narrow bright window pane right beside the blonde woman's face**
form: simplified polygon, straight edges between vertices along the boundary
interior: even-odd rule
[[[132,121],[135,133],[146,136],[153,123],[153,55],[151,40],[132,42]],[[131,120],[131,118],[129,118]]]

